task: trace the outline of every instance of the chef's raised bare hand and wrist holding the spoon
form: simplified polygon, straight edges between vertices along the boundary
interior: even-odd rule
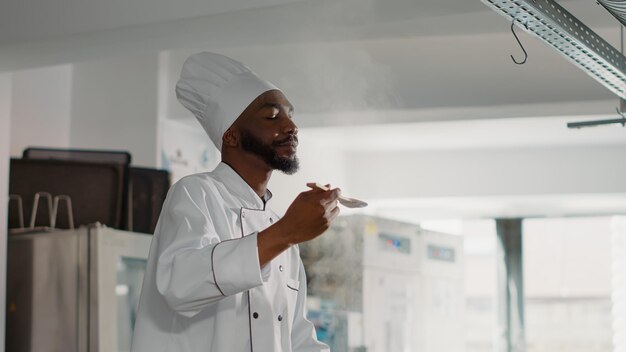
[[[314,187],[314,183],[307,184]],[[330,185],[327,185],[330,188]],[[313,188],[300,193],[285,216],[258,235],[259,263],[272,260],[290,246],[314,239],[326,231],[339,214],[339,188]]]

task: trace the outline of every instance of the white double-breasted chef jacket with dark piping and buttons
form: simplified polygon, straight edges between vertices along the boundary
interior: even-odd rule
[[[305,317],[298,247],[259,266],[257,234],[278,219],[266,205],[225,163],[172,186],[150,246],[132,352],[328,351]]]

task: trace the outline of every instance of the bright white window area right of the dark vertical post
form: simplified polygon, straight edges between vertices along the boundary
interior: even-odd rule
[[[611,220],[525,219],[525,297],[609,297]]]

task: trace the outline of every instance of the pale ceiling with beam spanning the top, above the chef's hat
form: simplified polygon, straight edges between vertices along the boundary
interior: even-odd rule
[[[608,12],[589,0],[564,2],[617,45],[618,23]],[[0,72],[209,48],[293,88],[305,112],[613,98],[525,34],[528,63],[513,65],[508,56],[520,50],[506,20],[479,0],[5,0],[0,6]],[[277,59],[265,59],[272,54]],[[350,64],[355,60],[360,65]],[[336,70],[326,70],[333,65]],[[289,82],[281,82],[285,68]],[[368,87],[354,89],[359,78]],[[334,91],[326,91],[329,84]]]

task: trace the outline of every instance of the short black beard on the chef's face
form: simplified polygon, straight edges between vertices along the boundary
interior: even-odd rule
[[[289,139],[281,141],[275,141],[271,145],[264,143],[262,140],[256,138],[252,133],[247,130],[241,129],[241,147],[252,154],[259,156],[267,165],[273,170],[280,170],[287,175],[292,175],[300,168],[300,161],[294,154],[291,157],[281,157],[278,155],[274,147],[281,143],[287,142]],[[296,138],[297,137],[293,137]]]

